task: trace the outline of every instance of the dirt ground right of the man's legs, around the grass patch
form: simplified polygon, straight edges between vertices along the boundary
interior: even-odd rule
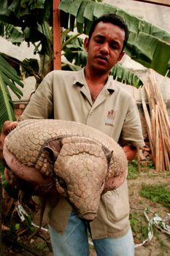
[[[148,172],[140,173],[136,179],[128,180],[129,189],[129,200],[131,214],[136,213],[138,219],[144,217],[144,208],[149,208],[150,213],[148,217],[152,219],[154,214],[158,214],[162,219],[170,213],[170,208],[163,207],[160,203],[152,202],[151,200],[141,197],[139,191],[142,184],[170,184],[170,172],[169,173],[156,173],[154,170],[149,170]],[[170,186],[169,186],[170,189]],[[147,227],[147,220],[146,225]],[[168,223],[167,223],[168,224]],[[134,233],[134,241],[138,241],[138,234]],[[144,246],[139,246],[136,248],[136,256],[168,256],[170,255],[170,236],[162,233],[156,227],[153,228],[153,238],[152,240],[145,244]]]

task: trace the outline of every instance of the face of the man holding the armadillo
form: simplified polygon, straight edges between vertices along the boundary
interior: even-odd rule
[[[112,23],[100,22],[90,38],[85,39],[85,50],[88,51],[88,67],[93,71],[107,73],[122,59],[125,31]]]

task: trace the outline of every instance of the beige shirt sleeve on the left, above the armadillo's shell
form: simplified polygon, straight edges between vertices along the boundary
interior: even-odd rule
[[[53,72],[42,80],[20,118],[53,118]]]

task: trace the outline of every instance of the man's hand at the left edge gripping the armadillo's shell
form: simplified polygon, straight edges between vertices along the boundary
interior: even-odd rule
[[[4,160],[3,157],[3,147],[4,147],[4,139],[11,132],[12,129],[18,126],[17,121],[5,121],[4,126],[1,129],[0,135],[0,159]]]

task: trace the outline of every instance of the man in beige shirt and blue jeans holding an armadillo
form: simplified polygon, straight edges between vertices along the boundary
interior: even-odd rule
[[[128,29],[117,15],[104,15],[91,27],[84,46],[85,69],[50,72],[31,98],[21,118],[58,118],[88,124],[123,146],[128,160],[144,146],[139,113],[133,97],[109,77],[124,55]],[[12,125],[6,123],[5,131]],[[49,198],[49,227],[54,255],[89,255],[88,232],[98,256],[132,256],[127,182],[101,195],[93,222],[79,219],[64,198]]]

